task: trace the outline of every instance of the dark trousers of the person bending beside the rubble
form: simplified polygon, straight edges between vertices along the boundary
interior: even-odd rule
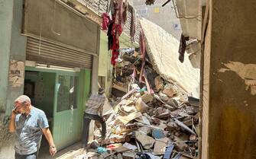
[[[88,144],[89,123],[91,122],[92,119],[102,123],[102,138],[105,138],[105,131],[106,131],[105,122],[103,121],[102,116],[84,113],[83,114],[83,136],[82,136],[83,147],[86,147]]]

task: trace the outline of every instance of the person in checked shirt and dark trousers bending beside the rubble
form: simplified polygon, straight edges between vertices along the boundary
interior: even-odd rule
[[[92,94],[86,103],[86,110],[83,115],[83,148],[88,148],[89,123],[96,120],[102,123],[102,139],[105,138],[105,118],[102,117],[103,105],[105,103],[104,88],[100,87],[98,94]]]

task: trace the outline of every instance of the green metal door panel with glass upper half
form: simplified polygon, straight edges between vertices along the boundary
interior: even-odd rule
[[[79,141],[79,75],[57,73],[53,110],[53,139],[57,149]]]

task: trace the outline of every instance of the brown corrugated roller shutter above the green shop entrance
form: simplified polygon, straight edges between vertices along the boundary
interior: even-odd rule
[[[26,59],[49,65],[92,68],[92,55],[65,44],[28,37]]]

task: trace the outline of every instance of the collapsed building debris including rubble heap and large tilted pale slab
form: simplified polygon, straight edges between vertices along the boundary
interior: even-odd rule
[[[87,158],[196,158],[199,142],[199,70],[179,42],[141,19],[140,49],[121,49],[105,103],[107,135],[96,123]],[[102,147],[104,145],[104,147]]]

